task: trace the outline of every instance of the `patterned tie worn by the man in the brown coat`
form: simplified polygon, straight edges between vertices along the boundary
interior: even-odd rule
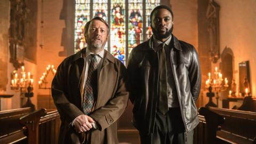
[[[84,89],[83,111],[85,115],[91,113],[94,98],[96,98],[97,94],[97,59],[96,54],[91,55],[92,61],[87,72],[87,78]]]

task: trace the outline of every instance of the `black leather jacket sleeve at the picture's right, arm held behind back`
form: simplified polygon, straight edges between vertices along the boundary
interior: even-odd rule
[[[193,47],[191,56],[192,60],[189,68],[190,91],[194,102],[196,102],[201,90],[201,68],[195,47]]]

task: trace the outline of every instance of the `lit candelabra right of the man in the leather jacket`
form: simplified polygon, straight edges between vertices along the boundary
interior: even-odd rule
[[[217,100],[217,106],[219,105],[219,93],[221,91],[226,91],[227,87],[228,87],[228,79],[225,78],[224,79],[224,84],[223,79],[222,79],[222,74],[218,71],[218,68],[215,67],[215,71],[214,71],[214,77],[211,77],[211,73],[208,73],[208,79],[205,83],[205,88],[209,90],[209,92],[211,93],[212,89],[213,92],[216,93],[216,100]],[[208,97],[208,96],[207,96]],[[214,97],[214,94],[209,94],[209,98]]]

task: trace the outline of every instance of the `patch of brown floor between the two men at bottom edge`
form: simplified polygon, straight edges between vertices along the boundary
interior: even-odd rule
[[[118,141],[119,144],[139,144],[139,132],[135,129],[118,130]]]

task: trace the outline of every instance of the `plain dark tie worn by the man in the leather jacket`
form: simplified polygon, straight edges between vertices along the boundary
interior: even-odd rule
[[[164,46],[165,44],[162,43],[159,45],[159,48],[158,48],[158,54],[160,55],[158,110],[165,115],[168,111],[168,98],[167,98],[166,54],[165,54]]]

